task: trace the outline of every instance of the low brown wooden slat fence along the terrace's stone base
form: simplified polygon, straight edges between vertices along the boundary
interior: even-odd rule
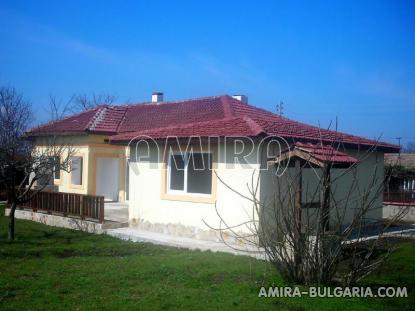
[[[103,196],[30,190],[26,197],[31,199],[19,207],[104,223]]]

